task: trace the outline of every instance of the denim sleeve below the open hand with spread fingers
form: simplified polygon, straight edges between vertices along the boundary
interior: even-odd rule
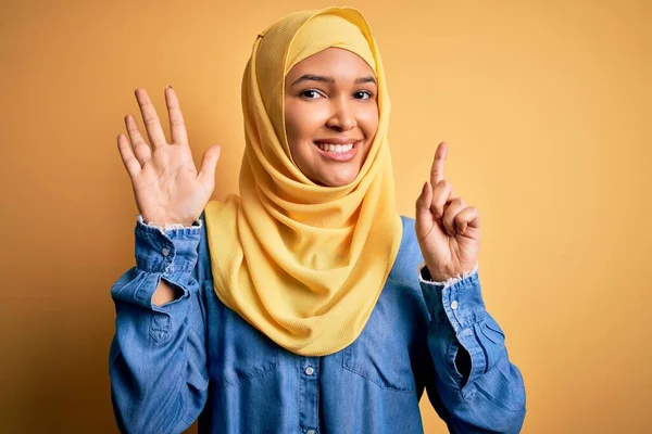
[[[208,395],[204,318],[196,266],[202,230],[136,224],[136,267],[112,286],[115,335],[109,355],[111,398],[123,433],[180,433]],[[178,292],[151,303],[161,279]]]

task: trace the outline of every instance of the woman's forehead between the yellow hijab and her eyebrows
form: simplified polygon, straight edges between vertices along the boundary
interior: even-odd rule
[[[288,79],[303,74],[354,77],[375,76],[374,69],[358,54],[341,48],[330,47],[297,63],[287,75]]]

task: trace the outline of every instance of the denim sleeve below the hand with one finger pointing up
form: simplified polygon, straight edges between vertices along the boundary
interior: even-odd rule
[[[429,278],[422,268],[436,371],[426,383],[430,401],[446,407],[438,412],[451,433],[518,433],[526,412],[523,376],[509,360],[503,330],[485,309],[477,266],[447,282]]]

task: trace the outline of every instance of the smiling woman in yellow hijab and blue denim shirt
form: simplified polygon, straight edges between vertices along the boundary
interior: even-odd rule
[[[389,99],[362,15],[327,8],[259,35],[242,81],[240,196],[209,202],[175,92],[167,144],[147,93],[118,149],[140,215],[112,289],[112,398],[124,432],[422,433],[424,387],[451,432],[518,432],[523,380],[485,310],[477,209],[446,144],[397,215]],[[425,263],[425,265],[423,264]]]

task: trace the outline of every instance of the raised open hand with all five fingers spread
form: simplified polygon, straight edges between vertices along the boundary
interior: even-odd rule
[[[156,111],[145,89],[136,89],[134,93],[151,149],[130,114],[125,116],[130,145],[124,135],[118,135],[117,149],[131,178],[138,210],[147,222],[190,226],[203,212],[215,188],[215,166],[221,148],[213,145],[205,151],[201,170],[197,173],[179,101],[172,87],[165,88],[171,143],[166,142]]]

